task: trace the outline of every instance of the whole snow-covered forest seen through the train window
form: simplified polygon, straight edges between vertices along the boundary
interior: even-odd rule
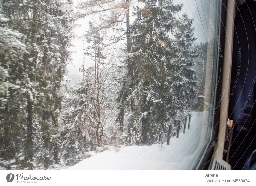
[[[87,29],[72,82],[78,19]],[[2,0],[0,170],[171,146],[205,89],[209,43],[196,42],[193,21],[175,0]]]

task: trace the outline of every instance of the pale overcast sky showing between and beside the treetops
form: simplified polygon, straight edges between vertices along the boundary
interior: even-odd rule
[[[213,0],[209,0],[211,2]],[[194,18],[193,27],[195,27],[194,35],[197,38],[198,43],[207,41],[205,36],[205,29],[207,29],[207,24],[209,25],[207,15],[204,15],[204,12],[209,11],[209,2],[206,0],[175,0],[175,3],[183,3],[183,10],[182,12],[187,12],[188,16],[190,18]],[[200,16],[198,14],[198,10],[196,7],[196,3],[198,6],[198,10],[200,12]],[[74,1],[74,6],[77,5],[77,0]],[[203,12],[204,11],[204,12]],[[180,14],[181,16],[181,14]],[[132,18],[131,18],[132,19]],[[201,23],[203,22],[203,24]],[[79,72],[79,67],[82,66],[83,63],[83,44],[84,47],[88,46],[86,42],[83,42],[83,38],[79,38],[85,34],[85,32],[88,29],[88,22],[89,18],[81,18],[76,21],[76,24],[79,25],[74,29],[75,38],[72,40],[72,44],[74,47],[72,47],[72,64],[68,64],[68,72],[69,75],[74,83],[74,81],[81,80],[82,73]],[[207,31],[206,31],[207,32]],[[89,61],[89,60],[88,60]],[[90,64],[87,63],[87,66]]]

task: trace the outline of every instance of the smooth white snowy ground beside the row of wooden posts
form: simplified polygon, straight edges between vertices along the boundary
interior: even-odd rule
[[[196,164],[206,143],[208,112],[194,112],[190,130],[166,143],[112,148],[65,170],[187,170]],[[203,121],[203,122],[202,122]],[[203,124],[202,124],[203,123]]]

